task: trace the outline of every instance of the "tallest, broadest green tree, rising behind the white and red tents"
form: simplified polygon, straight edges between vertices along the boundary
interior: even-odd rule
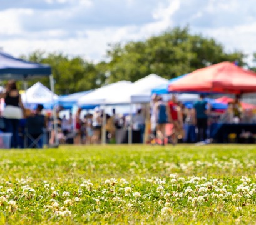
[[[114,44],[107,55],[110,83],[122,79],[136,81],[151,73],[170,79],[222,61],[245,64],[242,52],[225,53],[217,41],[192,35],[188,27],[176,27],[146,41]]]

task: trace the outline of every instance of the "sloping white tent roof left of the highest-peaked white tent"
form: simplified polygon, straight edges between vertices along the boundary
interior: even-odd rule
[[[91,91],[91,93],[78,99],[78,106],[90,106],[106,104],[108,99],[113,99],[115,96],[123,94],[123,90],[126,90],[128,86],[131,86],[130,81],[118,81],[113,84],[108,84],[101,88]]]

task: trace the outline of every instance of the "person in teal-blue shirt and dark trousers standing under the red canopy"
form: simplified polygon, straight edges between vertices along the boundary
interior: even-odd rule
[[[195,110],[196,126],[198,129],[197,141],[207,139],[207,122],[208,113],[210,112],[210,104],[205,101],[205,96],[200,95],[200,99],[193,105]]]

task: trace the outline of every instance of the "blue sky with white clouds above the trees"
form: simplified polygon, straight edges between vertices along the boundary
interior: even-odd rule
[[[138,41],[175,26],[213,37],[226,51],[256,52],[253,0],[3,0],[0,47],[105,60],[108,44]]]

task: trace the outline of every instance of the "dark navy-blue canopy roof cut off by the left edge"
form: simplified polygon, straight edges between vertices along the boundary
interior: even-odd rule
[[[51,75],[51,67],[32,63],[0,51],[0,79],[24,79]]]

